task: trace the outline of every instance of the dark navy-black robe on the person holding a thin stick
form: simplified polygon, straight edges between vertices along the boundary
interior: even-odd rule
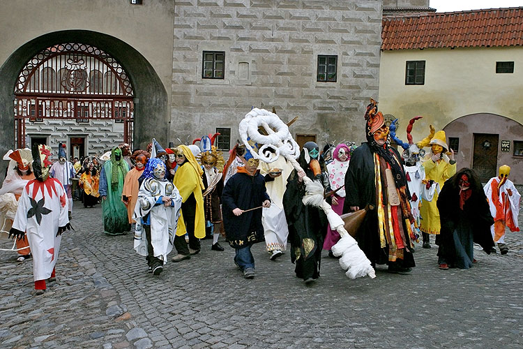
[[[257,171],[254,176],[241,172],[234,174],[222,193],[222,218],[225,236],[232,248],[242,248],[264,241],[264,226],[261,224],[261,208],[234,216],[232,210],[260,207],[268,197],[264,176]]]

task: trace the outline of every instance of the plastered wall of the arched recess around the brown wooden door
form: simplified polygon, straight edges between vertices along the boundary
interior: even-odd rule
[[[451,138],[457,139],[459,142],[456,156],[457,168],[473,168],[475,138],[481,135],[492,135],[494,138],[499,138],[497,151],[495,151],[497,167],[503,164],[509,165],[512,168],[510,179],[515,184],[523,184],[523,156],[514,154],[514,142],[523,142],[522,124],[498,114],[477,113],[459,117],[447,124],[443,130],[448,142]],[[501,150],[503,140],[510,141],[510,151]],[[449,144],[449,146],[451,145]],[[477,149],[476,156],[478,156]]]

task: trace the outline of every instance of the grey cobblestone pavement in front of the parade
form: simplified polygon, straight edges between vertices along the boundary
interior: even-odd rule
[[[100,217],[75,202],[75,231],[43,296],[33,296],[31,260],[0,254],[0,348],[523,346],[521,234],[508,234],[507,255],[476,250],[470,270],[439,270],[433,245],[417,248],[411,274],[379,267],[374,280],[347,279],[324,253],[321,278],[306,286],[289,253],[271,262],[255,245],[257,276],[245,280],[234,250],[211,251],[210,240],[152,276],[132,235],[103,235]]]

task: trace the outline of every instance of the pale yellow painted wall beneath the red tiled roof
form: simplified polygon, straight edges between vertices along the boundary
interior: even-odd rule
[[[425,61],[425,84],[405,85],[406,61]],[[514,61],[513,74],[497,74],[497,61]],[[400,119],[398,136],[417,115],[414,141],[450,121],[492,113],[523,124],[523,47],[473,47],[381,52],[379,110]]]

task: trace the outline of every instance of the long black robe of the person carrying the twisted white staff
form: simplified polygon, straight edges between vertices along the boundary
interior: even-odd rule
[[[309,168],[305,169],[305,173],[307,177],[314,179]],[[294,271],[298,278],[318,279],[327,217],[318,207],[303,205],[303,195],[305,184],[298,181],[298,174],[294,170],[287,179],[287,189],[283,195],[283,208],[289,225],[291,262],[296,263]]]

